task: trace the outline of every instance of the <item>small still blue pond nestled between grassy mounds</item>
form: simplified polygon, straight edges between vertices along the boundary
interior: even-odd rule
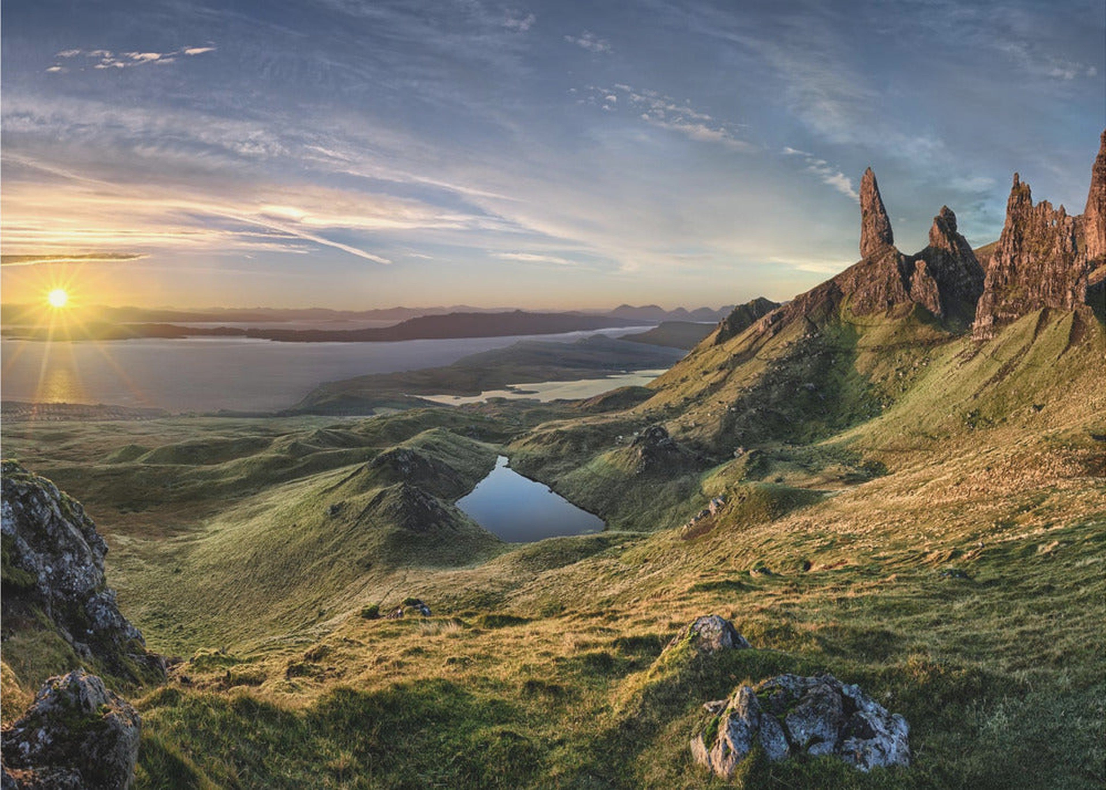
[[[602,532],[606,526],[547,486],[509,469],[505,456],[495,459],[495,468],[471,493],[457,500],[457,507],[509,543]]]

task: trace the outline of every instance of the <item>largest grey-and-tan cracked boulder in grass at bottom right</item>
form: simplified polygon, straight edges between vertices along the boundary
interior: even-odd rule
[[[711,715],[691,755],[726,779],[755,747],[773,761],[807,753],[833,755],[862,771],[910,765],[906,719],[833,675],[780,675],[705,707]]]

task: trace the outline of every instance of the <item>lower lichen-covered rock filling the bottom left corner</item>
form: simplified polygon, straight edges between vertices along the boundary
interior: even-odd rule
[[[3,762],[17,788],[131,787],[142,720],[103,680],[83,669],[52,677],[3,730]]]

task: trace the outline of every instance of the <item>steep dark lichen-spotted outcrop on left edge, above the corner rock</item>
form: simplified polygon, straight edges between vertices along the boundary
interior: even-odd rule
[[[17,461],[2,464],[3,604],[8,628],[52,624],[81,659],[121,678],[165,677],[104,579],[107,545],[81,503]]]

